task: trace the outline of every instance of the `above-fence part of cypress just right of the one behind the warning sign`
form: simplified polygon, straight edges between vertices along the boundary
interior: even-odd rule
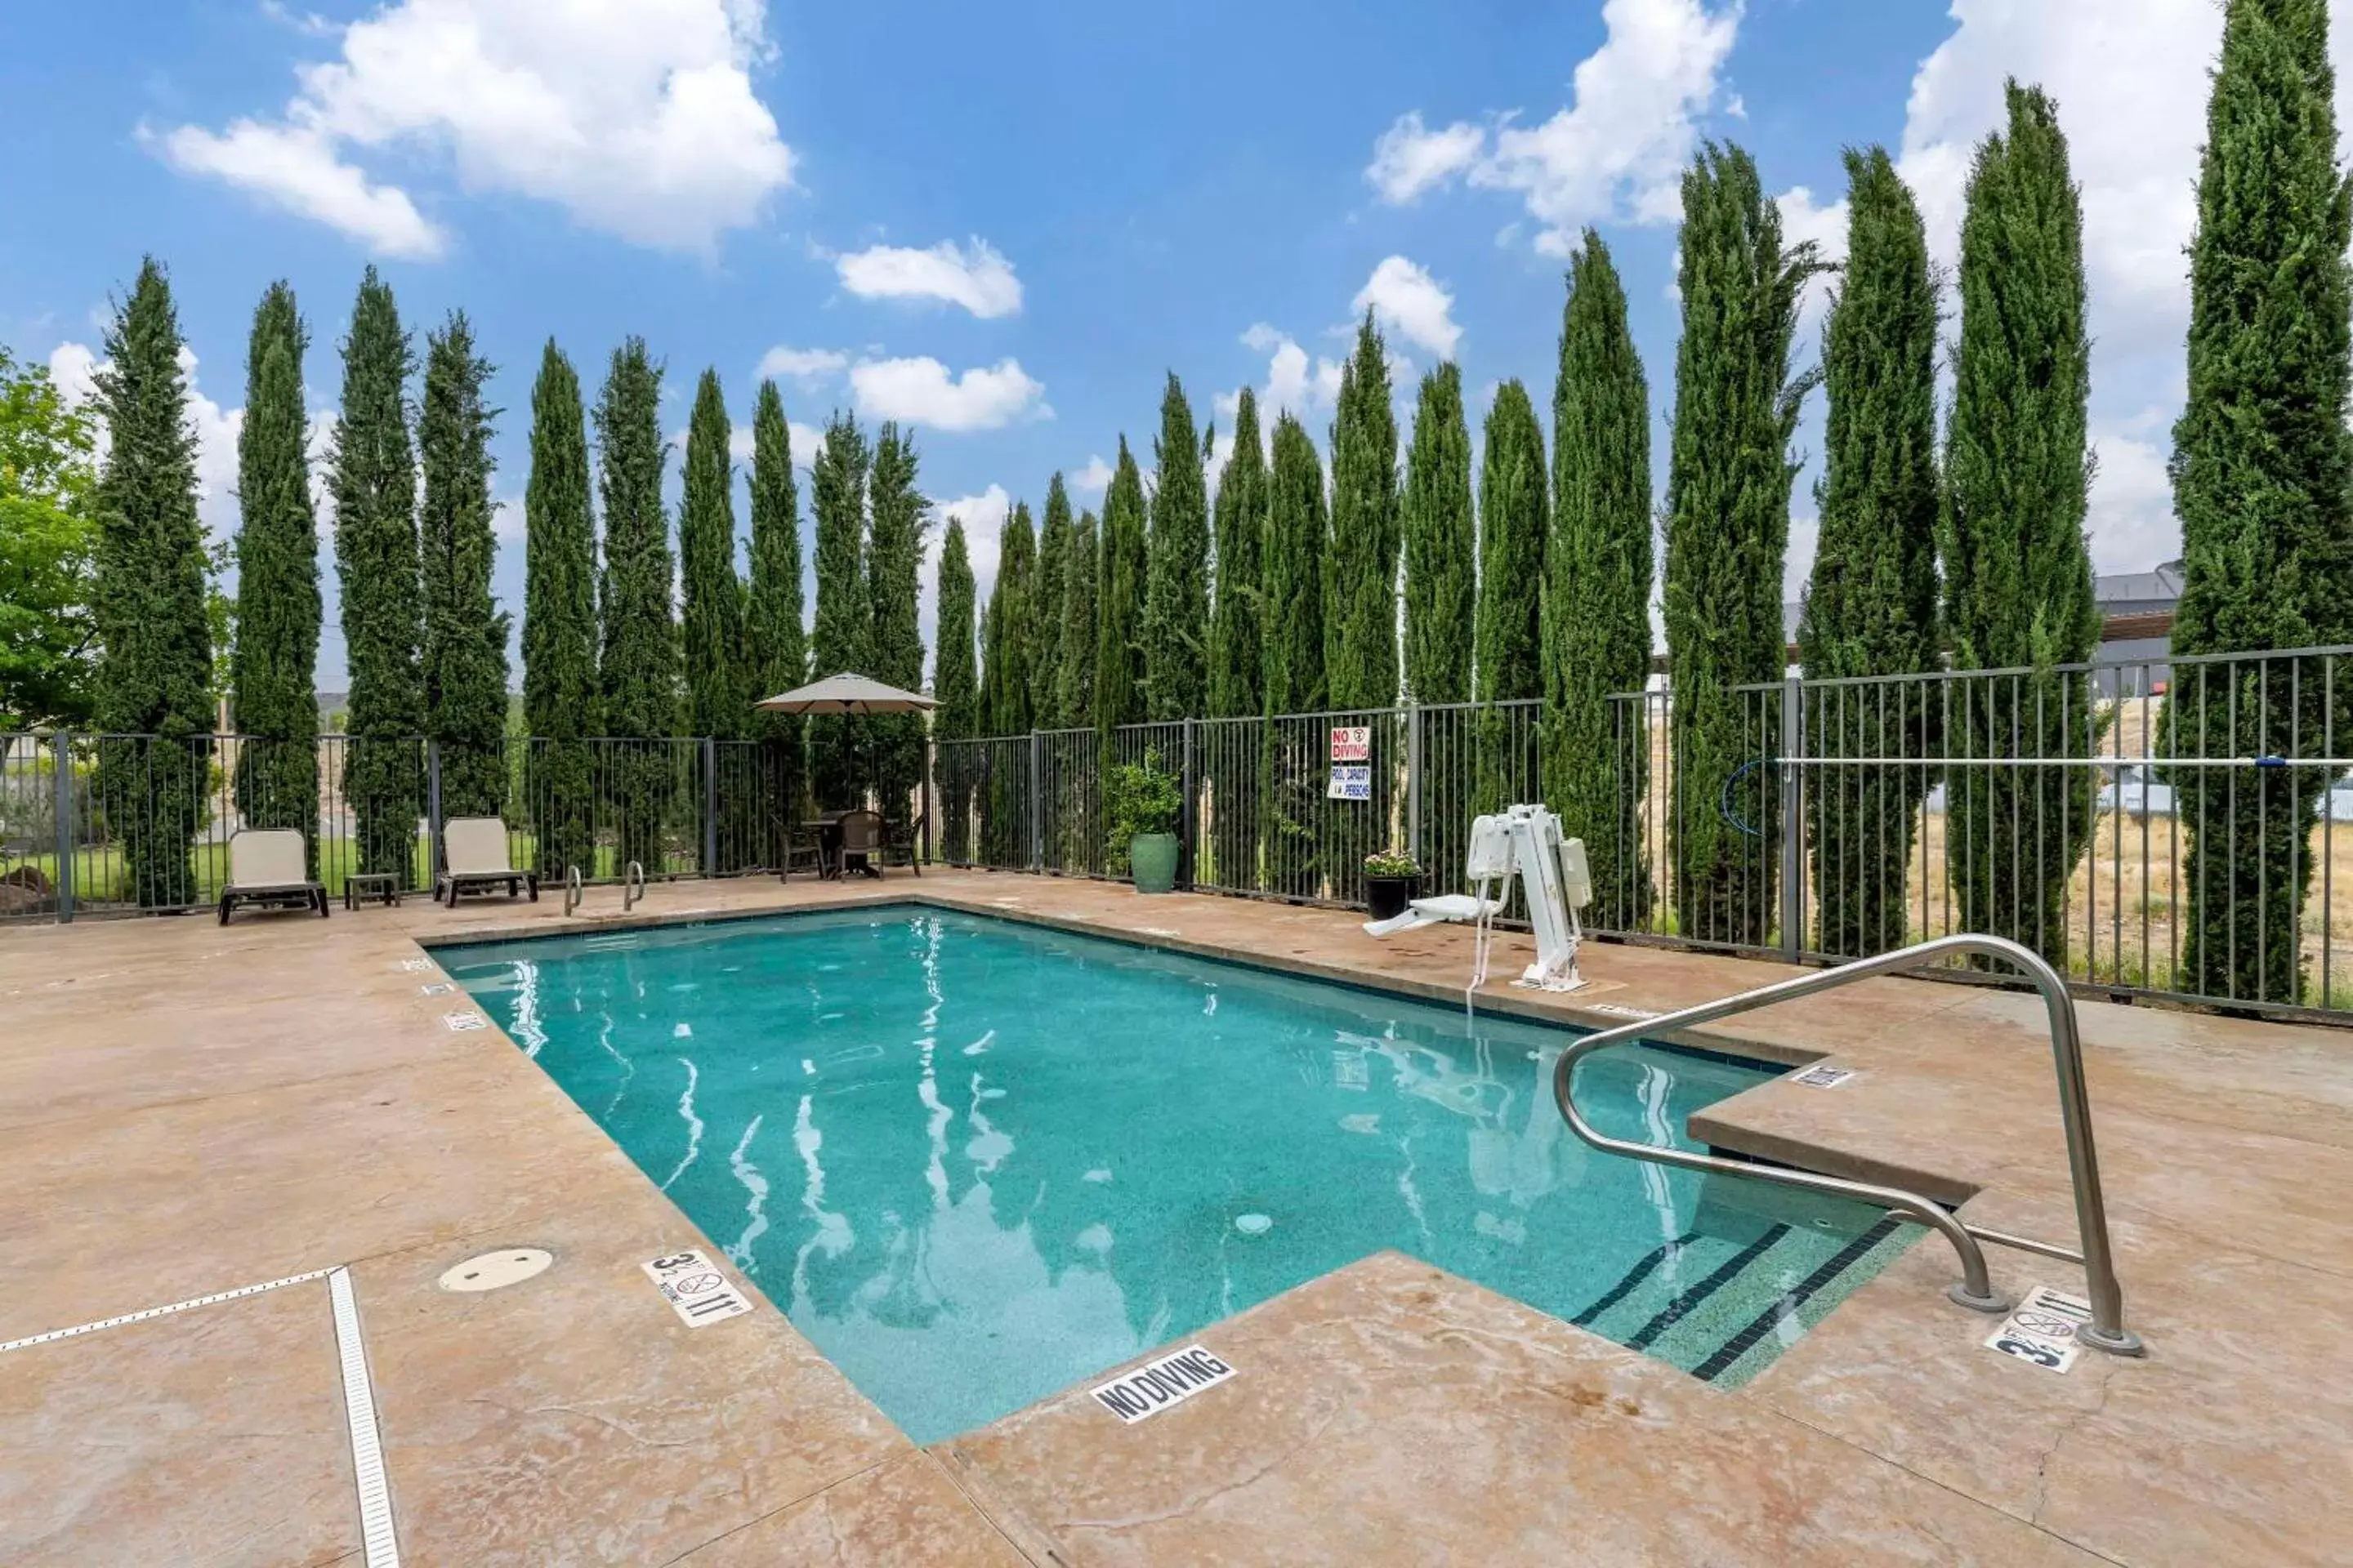
[[[1417,703],[1468,703],[1478,520],[1464,374],[1452,360],[1421,378],[1398,515],[1405,531],[1405,689]],[[1445,773],[1431,769],[1431,776]]]

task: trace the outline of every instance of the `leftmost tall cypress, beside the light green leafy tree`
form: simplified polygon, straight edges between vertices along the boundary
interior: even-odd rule
[[[99,790],[122,844],[129,898],[144,910],[195,903],[188,844],[205,811],[212,745],[212,630],[205,621],[205,524],[195,515],[195,433],[179,369],[179,315],[148,256],[106,329],[99,411],[99,550],[92,583]]]

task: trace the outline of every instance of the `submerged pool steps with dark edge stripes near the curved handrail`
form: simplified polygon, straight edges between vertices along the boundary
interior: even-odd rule
[[[1859,1237],[1765,1225],[1746,1239],[1661,1244],[1572,1321],[1628,1349],[1739,1387],[1904,1246],[1882,1220]]]

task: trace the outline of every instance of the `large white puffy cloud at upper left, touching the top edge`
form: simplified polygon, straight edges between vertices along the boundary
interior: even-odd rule
[[[762,0],[393,0],[296,66],[275,120],[158,136],[372,252],[435,256],[447,233],[367,162],[424,153],[478,195],[527,195],[638,244],[708,252],[791,186],[793,150],[751,87]],[[414,160],[412,160],[414,162]]]

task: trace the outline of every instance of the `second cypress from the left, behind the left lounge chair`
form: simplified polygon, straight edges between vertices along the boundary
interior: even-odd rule
[[[299,827],[318,875],[318,517],[311,510],[308,346],[294,289],[273,282],[254,308],[238,430],[238,639],[228,684],[238,745],[238,816]]]

